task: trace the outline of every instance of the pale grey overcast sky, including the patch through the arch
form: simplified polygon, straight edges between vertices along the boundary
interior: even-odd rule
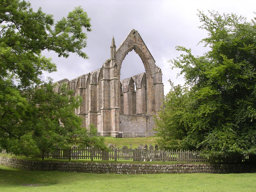
[[[199,29],[197,10],[215,10],[220,13],[235,13],[247,19],[255,17],[255,0],[30,0],[32,8],[54,15],[54,20],[66,17],[74,7],[81,6],[91,18],[92,31],[87,32],[87,47],[84,52],[90,59],[84,60],[76,54],[68,59],[58,57],[54,52],[43,52],[52,57],[57,72],[44,73],[59,81],[69,80],[102,67],[110,59],[110,45],[114,36],[116,47],[128,33],[135,29],[147,45],[156,65],[162,69],[164,94],[169,92],[171,79],[175,85],[183,84],[183,78],[176,78],[179,70],[171,70],[167,61],[178,57],[181,52],[175,46],[191,48],[194,55],[203,55],[208,49],[198,42],[207,36]],[[133,51],[125,57],[121,68],[121,79],[145,72],[140,57]]]

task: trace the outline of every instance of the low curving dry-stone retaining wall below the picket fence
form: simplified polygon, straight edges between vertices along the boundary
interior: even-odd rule
[[[25,171],[63,171],[84,173],[253,173],[255,164],[118,164],[47,162],[0,156],[0,164]]]

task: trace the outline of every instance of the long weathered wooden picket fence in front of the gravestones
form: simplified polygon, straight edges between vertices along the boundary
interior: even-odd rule
[[[152,146],[153,147],[153,146]],[[72,148],[69,150],[57,149],[53,152],[42,152],[42,154],[35,156],[36,158],[50,158],[50,159],[88,159],[88,160],[130,160],[130,161],[162,161],[162,162],[186,162],[186,163],[242,163],[242,162],[256,162],[256,156],[229,156],[208,158],[200,151],[173,151],[154,149],[149,146],[147,148],[111,148],[109,151],[102,151],[96,148]]]

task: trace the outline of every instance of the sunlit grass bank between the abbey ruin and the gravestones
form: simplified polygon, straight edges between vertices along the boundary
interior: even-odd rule
[[[130,148],[130,144],[132,143],[132,148],[137,148],[140,143],[142,145],[149,144],[155,147],[156,137],[137,137],[137,138],[114,138],[114,137],[104,137],[105,144],[108,146],[109,143],[115,145],[118,148],[122,148],[124,145]]]

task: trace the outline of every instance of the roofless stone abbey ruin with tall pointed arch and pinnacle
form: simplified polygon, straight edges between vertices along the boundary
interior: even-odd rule
[[[122,62],[132,50],[140,56],[145,73],[120,80]],[[95,124],[102,136],[115,136],[122,131],[151,131],[153,115],[160,110],[164,99],[161,69],[134,29],[117,50],[113,37],[110,51],[111,57],[102,68],[57,83],[67,83],[68,89],[75,91],[74,95],[83,98],[75,113],[82,117],[84,127]]]

